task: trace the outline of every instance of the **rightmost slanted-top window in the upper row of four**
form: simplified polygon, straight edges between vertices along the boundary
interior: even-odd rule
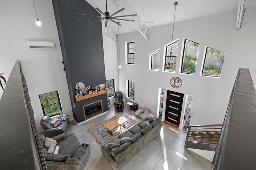
[[[225,53],[206,47],[202,75],[220,77]]]

